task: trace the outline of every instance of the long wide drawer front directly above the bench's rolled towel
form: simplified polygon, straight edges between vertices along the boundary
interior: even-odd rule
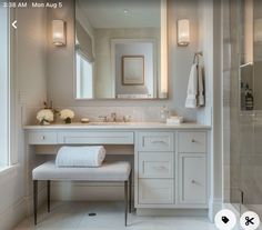
[[[133,132],[60,132],[60,143],[75,144],[133,144]]]

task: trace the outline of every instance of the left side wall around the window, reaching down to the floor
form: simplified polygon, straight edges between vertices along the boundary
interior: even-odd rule
[[[33,154],[26,156],[22,122],[36,116],[37,108],[47,99],[46,81],[46,10],[20,9],[16,12],[18,29],[16,39],[16,69],[11,71],[16,89],[16,133],[11,144],[14,167],[0,174],[0,229],[11,229],[28,213],[31,181],[30,164]],[[32,20],[33,19],[33,20]],[[16,91],[16,92],[14,92]]]

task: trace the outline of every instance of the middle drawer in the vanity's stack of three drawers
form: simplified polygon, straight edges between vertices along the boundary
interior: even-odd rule
[[[139,178],[173,178],[174,153],[139,152]]]

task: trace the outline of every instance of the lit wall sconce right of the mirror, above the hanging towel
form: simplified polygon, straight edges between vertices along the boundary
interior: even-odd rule
[[[190,43],[189,19],[178,20],[178,46],[187,47]]]

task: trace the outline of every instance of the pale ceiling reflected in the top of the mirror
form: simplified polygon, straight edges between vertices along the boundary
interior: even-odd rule
[[[159,28],[160,1],[78,0],[77,3],[93,28]]]

